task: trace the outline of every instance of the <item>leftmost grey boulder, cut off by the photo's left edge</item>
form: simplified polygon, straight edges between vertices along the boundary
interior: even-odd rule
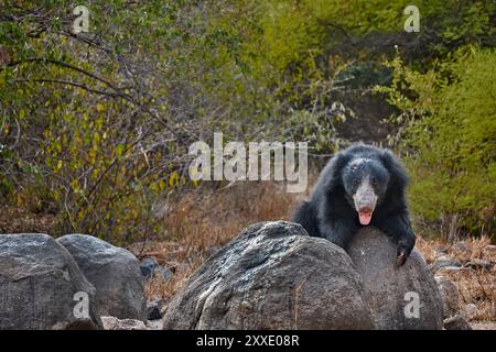
[[[94,299],[95,287],[50,235],[0,234],[0,330],[100,329]]]

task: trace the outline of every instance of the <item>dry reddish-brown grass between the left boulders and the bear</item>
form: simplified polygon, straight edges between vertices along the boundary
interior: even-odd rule
[[[287,194],[272,183],[239,184],[208,194],[186,195],[164,220],[164,240],[149,243],[143,251],[142,256],[154,256],[174,271],[166,282],[150,282],[148,297],[166,302],[218,248],[251,223],[288,220],[303,197]]]

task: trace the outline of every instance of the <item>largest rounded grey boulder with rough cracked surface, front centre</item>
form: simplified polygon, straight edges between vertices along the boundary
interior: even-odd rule
[[[349,256],[299,224],[248,227],[169,304],[164,329],[373,329]]]

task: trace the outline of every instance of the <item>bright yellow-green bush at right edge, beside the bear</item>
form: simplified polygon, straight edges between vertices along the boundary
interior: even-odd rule
[[[428,221],[456,216],[484,232],[495,216],[496,51],[466,47],[425,74],[399,57],[391,66],[392,87],[378,90],[402,111],[395,120],[405,127],[398,141],[409,151],[413,211]]]

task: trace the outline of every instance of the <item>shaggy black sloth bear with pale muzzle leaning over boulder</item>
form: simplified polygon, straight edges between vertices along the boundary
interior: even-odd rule
[[[398,243],[396,263],[402,265],[416,243],[407,184],[405,168],[389,150],[355,144],[331,158],[293,221],[345,250],[360,227],[374,226]]]

